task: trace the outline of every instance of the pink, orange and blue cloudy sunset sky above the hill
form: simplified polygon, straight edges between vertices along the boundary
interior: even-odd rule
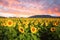
[[[60,16],[60,0],[0,0],[0,16]]]

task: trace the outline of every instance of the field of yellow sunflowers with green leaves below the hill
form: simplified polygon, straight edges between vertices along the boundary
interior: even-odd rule
[[[60,40],[60,18],[0,18],[0,40]]]

